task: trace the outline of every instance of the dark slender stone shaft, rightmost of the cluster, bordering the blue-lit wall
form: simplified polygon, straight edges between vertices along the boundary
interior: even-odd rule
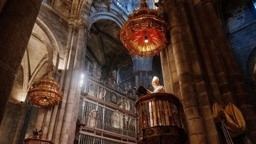
[[[214,36],[219,47],[223,64],[225,65],[230,85],[233,88],[235,98],[237,99],[238,107],[243,112],[247,128],[250,130],[252,142],[256,143],[256,138],[254,137],[256,134],[256,114],[252,104],[251,95],[243,82],[241,72],[239,71],[234,54],[231,52],[226,35],[220,25],[218,14],[214,9],[213,3],[210,0],[205,0],[204,8],[210,25],[214,30]]]

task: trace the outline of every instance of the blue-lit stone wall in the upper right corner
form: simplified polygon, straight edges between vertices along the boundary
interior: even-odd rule
[[[223,4],[228,41],[244,77],[249,76],[247,63],[256,47],[255,15],[256,10],[251,1],[227,1]]]

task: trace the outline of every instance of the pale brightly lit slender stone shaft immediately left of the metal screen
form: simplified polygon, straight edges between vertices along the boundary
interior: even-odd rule
[[[71,138],[74,137],[75,133],[71,133],[72,129],[72,117],[73,117],[73,108],[76,104],[76,98],[79,97],[77,92],[80,91],[79,89],[79,77],[81,76],[81,70],[83,66],[83,59],[82,59],[82,48],[84,42],[84,31],[85,26],[84,22],[79,23],[82,21],[78,21],[78,34],[76,38],[76,45],[72,46],[70,60],[68,63],[68,74],[67,79],[70,79],[70,83],[66,83],[68,90],[64,92],[67,94],[67,102],[65,107],[65,115],[63,117],[62,127],[61,127],[61,134],[60,134],[60,141],[59,143],[69,143]],[[65,87],[66,87],[65,86]],[[75,119],[76,120],[76,119]]]

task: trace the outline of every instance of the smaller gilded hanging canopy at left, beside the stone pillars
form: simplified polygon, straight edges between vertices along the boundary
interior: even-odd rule
[[[62,100],[62,94],[59,92],[60,84],[55,82],[52,76],[53,66],[51,66],[46,76],[30,87],[28,91],[30,101],[37,106],[54,106]]]

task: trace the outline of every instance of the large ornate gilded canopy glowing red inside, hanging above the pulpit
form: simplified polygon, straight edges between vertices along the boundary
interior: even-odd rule
[[[155,55],[167,43],[167,23],[156,10],[148,9],[146,0],[141,0],[140,9],[129,15],[120,31],[120,38],[131,54],[141,57]]]

